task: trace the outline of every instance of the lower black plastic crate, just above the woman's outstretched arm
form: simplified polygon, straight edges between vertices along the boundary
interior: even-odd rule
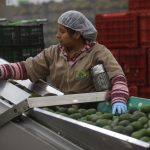
[[[9,62],[17,62],[23,61],[28,57],[34,57],[39,52],[42,51],[42,48],[19,48],[19,47],[3,47],[0,48],[0,57],[9,61]]]

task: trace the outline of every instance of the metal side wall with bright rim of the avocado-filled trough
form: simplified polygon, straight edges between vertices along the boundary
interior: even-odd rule
[[[150,144],[68,117],[35,108],[30,116],[86,150],[150,150]]]

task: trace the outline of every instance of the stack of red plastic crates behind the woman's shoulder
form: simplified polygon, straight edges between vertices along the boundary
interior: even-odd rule
[[[150,1],[128,0],[127,12],[96,14],[97,41],[122,66],[130,95],[150,98]]]

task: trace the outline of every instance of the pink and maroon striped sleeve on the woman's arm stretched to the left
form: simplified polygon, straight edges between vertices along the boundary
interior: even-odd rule
[[[0,65],[0,79],[25,80],[27,78],[28,75],[23,62]]]

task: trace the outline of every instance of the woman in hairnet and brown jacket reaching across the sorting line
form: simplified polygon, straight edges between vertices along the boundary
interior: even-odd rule
[[[102,64],[111,84],[112,113],[127,112],[126,77],[112,53],[96,42],[97,31],[92,23],[75,10],[64,12],[57,23],[58,44],[25,61],[0,65],[0,79],[35,82],[47,78],[65,94],[89,93],[96,91],[91,68]]]

